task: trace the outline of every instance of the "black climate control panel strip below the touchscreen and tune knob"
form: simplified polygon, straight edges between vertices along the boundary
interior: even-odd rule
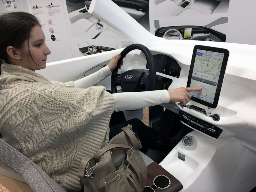
[[[202,119],[199,119],[197,117],[194,117],[193,115],[190,115],[184,111],[179,110],[180,114],[180,120],[187,125],[193,127],[194,129],[201,131],[213,138],[219,138],[220,134],[222,133],[222,129],[219,127],[212,125],[211,123],[208,123],[206,121],[203,121]]]

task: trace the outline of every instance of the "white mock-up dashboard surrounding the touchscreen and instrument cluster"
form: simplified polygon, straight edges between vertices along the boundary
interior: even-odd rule
[[[177,103],[166,103],[162,104],[162,106],[177,114],[179,114],[179,110],[181,110],[217,126],[223,130],[219,138],[236,137],[241,141],[242,145],[256,151],[256,141],[254,139],[254,135],[256,134],[256,119],[253,113],[256,104],[256,67],[252,62],[253,59],[255,59],[253,54],[253,51],[256,51],[255,46],[202,41],[183,43],[179,40],[152,43],[152,47],[149,49],[153,55],[163,54],[170,56],[175,59],[181,67],[179,78],[159,72],[156,72],[156,75],[172,79],[173,82],[168,90],[186,87],[193,48],[197,44],[221,47],[230,52],[217,108],[208,108],[191,100],[187,103],[203,108],[207,113],[220,114],[220,120],[214,121],[211,117],[203,113],[186,107],[182,108],[177,105]],[[175,48],[176,46],[177,48]],[[241,57],[241,55],[243,56]],[[134,54],[132,58],[128,57],[124,61],[127,65],[123,67],[121,73],[130,69],[146,68],[146,60],[139,52]],[[192,126],[190,127],[197,130]],[[208,135],[203,131],[200,132],[204,135]]]

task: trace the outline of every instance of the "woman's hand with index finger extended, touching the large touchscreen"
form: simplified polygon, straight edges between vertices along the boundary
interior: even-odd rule
[[[170,102],[179,102],[178,105],[185,105],[191,99],[190,91],[200,91],[201,87],[180,87],[177,89],[168,90]]]

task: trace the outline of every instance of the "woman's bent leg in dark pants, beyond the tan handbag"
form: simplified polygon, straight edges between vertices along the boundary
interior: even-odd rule
[[[120,129],[128,124],[132,125],[132,130],[138,134],[143,148],[152,148],[154,146],[156,142],[156,131],[142,123],[139,119],[130,119],[129,121],[110,127],[109,140],[120,133]]]

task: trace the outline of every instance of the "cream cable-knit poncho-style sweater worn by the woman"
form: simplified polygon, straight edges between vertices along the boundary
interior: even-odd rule
[[[3,139],[68,191],[81,189],[83,157],[107,145],[113,106],[103,86],[78,89],[74,82],[49,82],[29,69],[1,65]]]

